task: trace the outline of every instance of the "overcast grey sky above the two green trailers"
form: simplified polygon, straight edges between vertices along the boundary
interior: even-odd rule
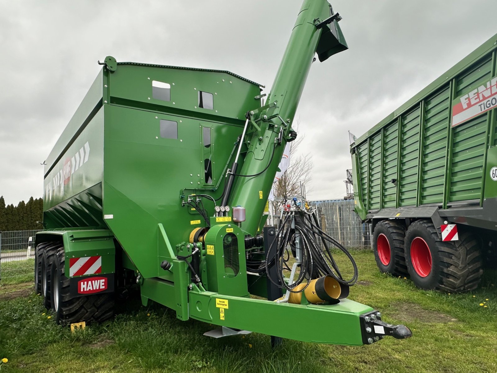
[[[0,194],[42,196],[43,166],[97,60],[229,70],[266,86],[301,0],[0,0]],[[362,135],[497,33],[497,1],[333,1],[349,50],[316,62],[300,101],[311,199],[340,198]]]

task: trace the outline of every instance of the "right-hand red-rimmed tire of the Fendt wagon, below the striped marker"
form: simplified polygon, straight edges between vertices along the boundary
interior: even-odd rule
[[[414,284],[427,290],[471,291],[483,275],[477,237],[459,231],[458,241],[443,242],[430,220],[417,220],[406,233],[406,263]]]

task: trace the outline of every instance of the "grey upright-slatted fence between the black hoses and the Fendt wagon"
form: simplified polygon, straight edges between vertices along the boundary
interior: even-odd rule
[[[346,248],[371,248],[370,224],[354,212],[353,199],[312,201],[321,217],[322,229]]]

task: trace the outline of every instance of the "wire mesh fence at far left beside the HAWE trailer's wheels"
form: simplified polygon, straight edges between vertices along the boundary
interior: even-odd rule
[[[34,266],[34,247],[32,241],[38,232],[8,231],[0,232],[0,281],[24,276],[32,277]]]

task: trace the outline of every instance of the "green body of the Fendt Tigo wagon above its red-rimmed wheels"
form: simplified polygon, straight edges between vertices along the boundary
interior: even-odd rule
[[[494,35],[350,146],[359,217],[373,230],[390,220],[403,232],[425,219],[444,241],[447,224],[447,229],[457,224],[495,248],[496,121]],[[393,250],[395,244],[389,244]],[[385,266],[388,258],[383,259]],[[404,274],[400,267],[393,272]]]

